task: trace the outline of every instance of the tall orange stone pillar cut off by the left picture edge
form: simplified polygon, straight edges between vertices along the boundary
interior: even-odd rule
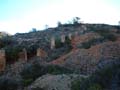
[[[0,50],[0,72],[6,67],[5,50]]]

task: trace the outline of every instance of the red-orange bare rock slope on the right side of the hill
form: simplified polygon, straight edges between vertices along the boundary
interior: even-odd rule
[[[85,36],[76,36],[71,42],[73,50],[51,62],[51,64],[63,65],[67,68],[77,69],[86,73],[94,72],[96,66],[102,58],[110,60],[110,58],[120,57],[120,38],[115,42],[107,41],[98,45],[93,45],[89,49],[77,48],[78,43],[88,41],[99,36],[92,33]]]

